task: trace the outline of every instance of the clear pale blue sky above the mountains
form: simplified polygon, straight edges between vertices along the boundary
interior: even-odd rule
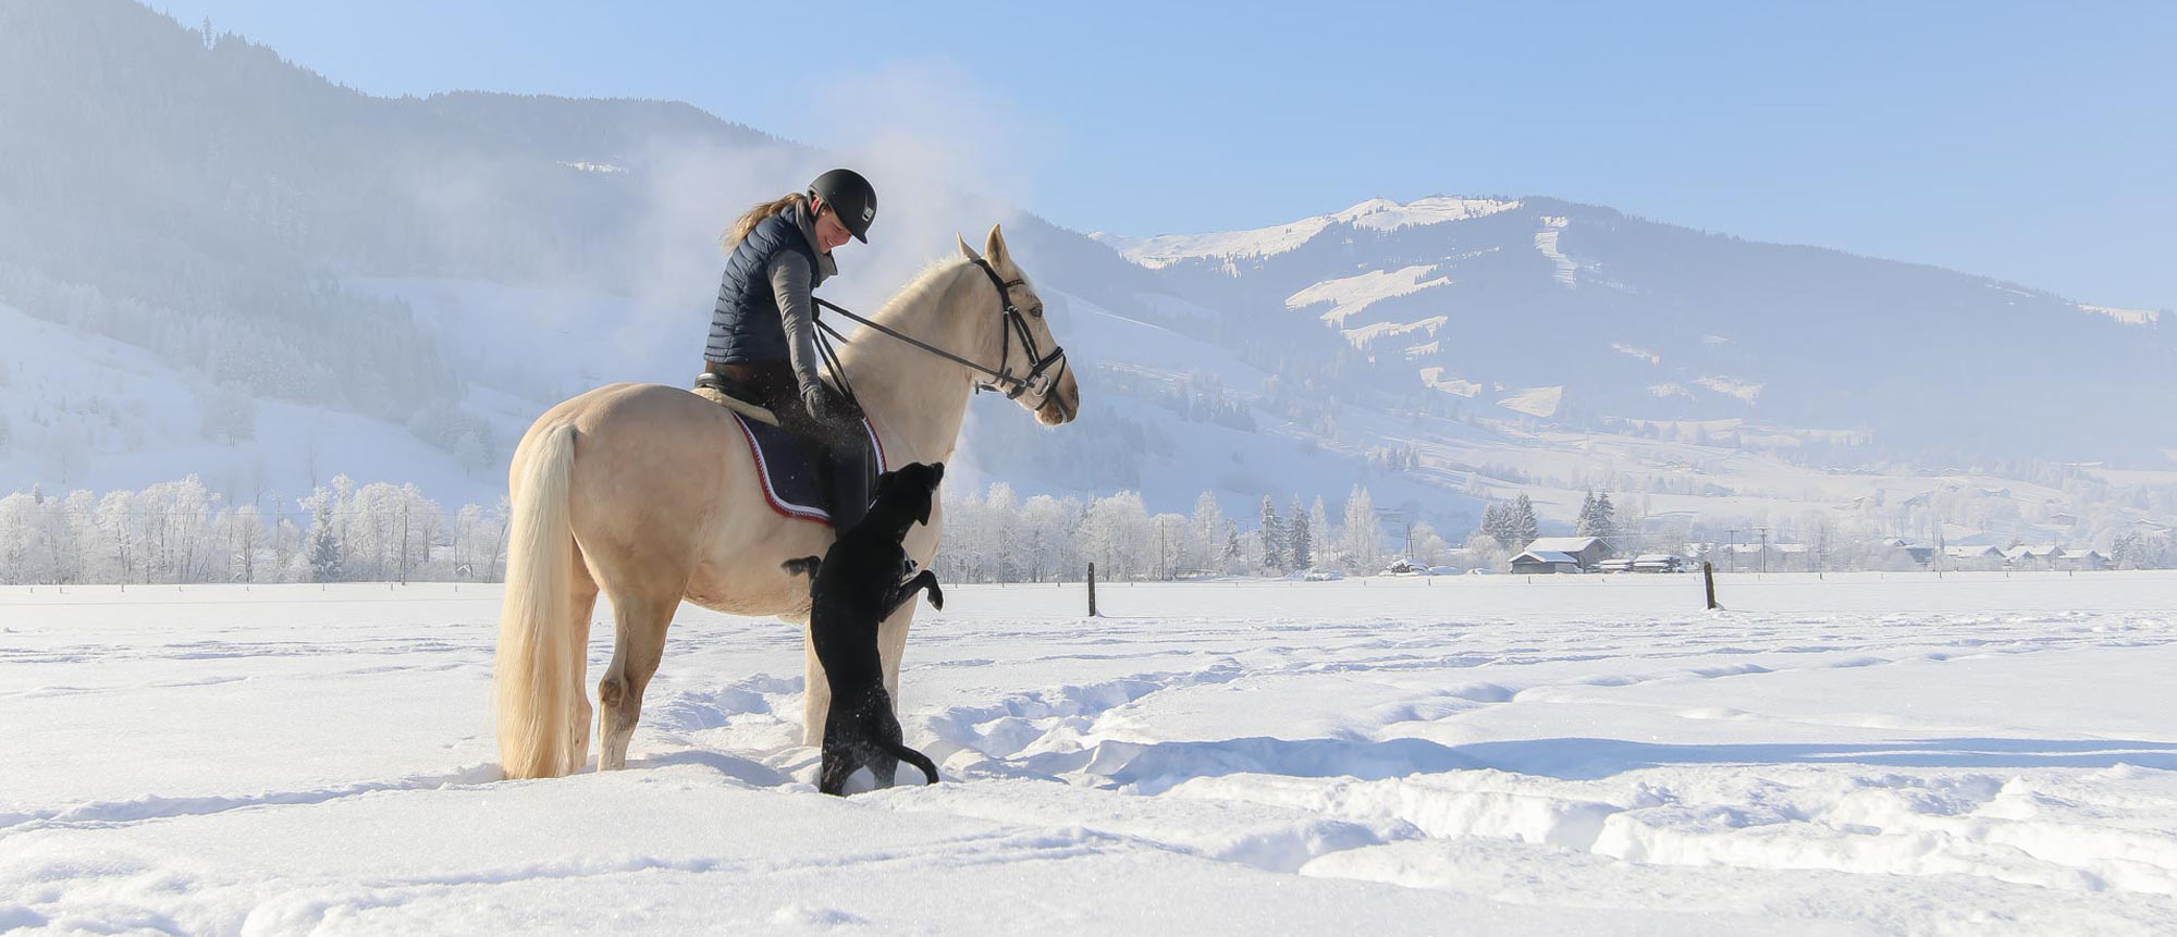
[[[370,94],[694,102],[851,146],[960,113],[1080,231],[1548,194],[2177,307],[2177,4],[152,0]]]

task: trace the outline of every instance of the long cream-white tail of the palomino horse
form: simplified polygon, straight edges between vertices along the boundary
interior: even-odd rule
[[[568,466],[575,427],[544,434],[514,486],[507,532],[507,595],[499,606],[499,658],[492,702],[499,710],[499,765],[507,778],[557,778],[575,758],[575,647],[568,580],[575,527]]]

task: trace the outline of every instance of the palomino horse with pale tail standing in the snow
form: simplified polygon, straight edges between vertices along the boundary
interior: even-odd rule
[[[1043,301],[997,227],[982,255],[967,242],[960,255],[914,279],[871,316],[875,327],[840,349],[840,366],[890,464],[951,460],[977,386],[1008,390],[1043,425],[1080,412],[1080,386],[1043,320]],[[681,599],[805,621],[808,580],[779,562],[832,545],[832,527],[764,503],[749,442],[725,407],[660,384],[596,388],[538,416],[514,449],[509,486],[507,595],[494,662],[499,763],[507,778],[557,778],[590,758],[583,669],[599,591],[612,601],[614,641],[596,684],[596,765],[616,769],[627,765],[642,691],[657,673]],[[930,564],[940,527],[943,508],[908,536],[914,562]],[[908,604],[877,630],[893,699],[912,619]],[[803,652],[801,730],[816,745],[829,689],[805,636]]]

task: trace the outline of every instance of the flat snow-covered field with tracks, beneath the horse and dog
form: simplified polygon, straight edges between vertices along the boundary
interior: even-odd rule
[[[949,599],[834,800],[777,621],[494,782],[496,588],[0,591],[0,930],[2177,930],[2170,573]]]

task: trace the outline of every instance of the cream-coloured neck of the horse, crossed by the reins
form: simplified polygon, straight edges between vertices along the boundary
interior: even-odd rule
[[[988,336],[973,329],[977,316],[958,307],[971,303],[973,283],[962,277],[967,264],[934,272],[932,281],[910,288],[884,312],[873,316],[901,336],[912,336],[936,349],[980,362]],[[877,329],[860,329],[840,351],[840,366],[853,384],[862,410],[869,412],[884,442],[886,462],[949,462],[960,445],[960,423],[973,388],[969,370]]]

